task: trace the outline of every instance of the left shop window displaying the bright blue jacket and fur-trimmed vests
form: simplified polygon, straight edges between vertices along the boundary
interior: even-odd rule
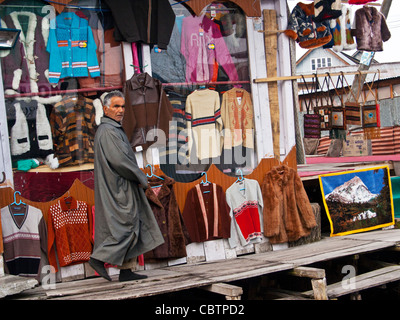
[[[0,6],[1,26],[20,29],[21,41],[0,55],[15,167],[32,158],[45,159],[49,169],[93,163],[102,115],[95,100],[123,85],[111,12],[97,0],[79,7],[69,1],[62,12],[45,1],[12,3]]]

